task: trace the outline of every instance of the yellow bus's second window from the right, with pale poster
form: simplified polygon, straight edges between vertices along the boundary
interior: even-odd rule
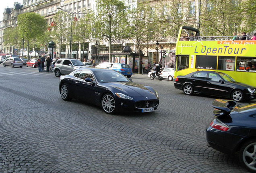
[[[235,56],[219,56],[218,70],[235,70]]]

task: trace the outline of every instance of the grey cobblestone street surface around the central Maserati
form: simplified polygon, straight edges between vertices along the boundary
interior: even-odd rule
[[[0,173],[246,173],[206,145],[216,97],[134,74],[159,93],[152,113],[108,115],[63,101],[54,73],[0,65]],[[255,100],[254,100],[255,101]]]

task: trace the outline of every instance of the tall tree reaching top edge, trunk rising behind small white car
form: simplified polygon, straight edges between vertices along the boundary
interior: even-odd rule
[[[123,34],[120,27],[127,26],[127,9],[128,7],[121,0],[97,0],[95,32],[98,33],[99,39],[103,37],[109,42],[109,62],[111,62],[112,40],[120,39]]]

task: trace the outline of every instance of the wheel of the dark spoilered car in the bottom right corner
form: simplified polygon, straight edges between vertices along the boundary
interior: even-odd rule
[[[244,143],[239,151],[239,160],[246,169],[256,173],[256,139]]]

